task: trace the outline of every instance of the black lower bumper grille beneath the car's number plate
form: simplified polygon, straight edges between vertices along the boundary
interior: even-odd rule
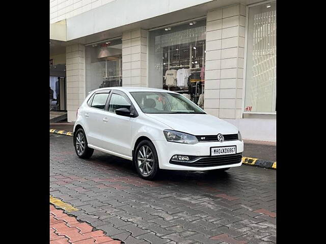
[[[199,160],[191,162],[176,162],[170,160],[170,164],[190,166],[190,167],[214,167],[221,165],[238,164],[241,162],[242,153],[232,154],[232,155],[221,155],[221,156],[211,156],[211,157],[198,157]],[[198,159],[197,158],[197,159]],[[196,159],[193,159],[196,160]]]

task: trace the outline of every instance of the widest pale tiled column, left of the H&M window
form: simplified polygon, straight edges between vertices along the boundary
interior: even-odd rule
[[[207,13],[205,101],[207,113],[241,118],[246,6]]]

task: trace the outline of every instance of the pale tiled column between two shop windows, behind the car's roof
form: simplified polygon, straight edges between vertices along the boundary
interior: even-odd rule
[[[122,34],[122,86],[147,87],[147,31]]]

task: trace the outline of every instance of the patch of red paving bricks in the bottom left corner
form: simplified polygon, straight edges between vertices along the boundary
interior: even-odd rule
[[[50,244],[120,244],[121,241],[93,231],[88,223],[80,223],[50,204]]]

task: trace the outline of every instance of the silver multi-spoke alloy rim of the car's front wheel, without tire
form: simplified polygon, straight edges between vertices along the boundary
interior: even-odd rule
[[[154,167],[154,156],[149,146],[142,146],[138,150],[137,162],[139,170],[143,175],[148,175],[152,172]]]

